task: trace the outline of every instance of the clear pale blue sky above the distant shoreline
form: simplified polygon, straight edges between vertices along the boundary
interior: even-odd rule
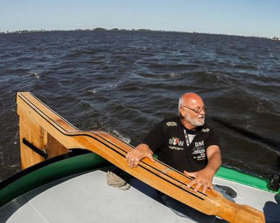
[[[280,37],[280,0],[0,0],[0,32],[151,29]]]

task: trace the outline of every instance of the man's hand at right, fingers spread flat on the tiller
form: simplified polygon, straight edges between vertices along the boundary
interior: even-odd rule
[[[191,181],[187,187],[190,188],[191,186],[196,185],[194,191],[197,192],[200,187],[203,186],[202,193],[205,193],[207,188],[210,188],[210,190],[214,191],[213,185],[212,185],[212,179],[215,175],[215,171],[211,169],[211,167],[205,167],[204,169],[197,171],[197,172],[186,172],[184,171],[184,174],[188,177],[194,177],[193,181]]]

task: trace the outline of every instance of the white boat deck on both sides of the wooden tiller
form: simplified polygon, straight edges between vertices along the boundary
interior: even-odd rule
[[[219,178],[214,183],[234,188],[236,203],[265,211],[267,222],[280,222],[279,195]],[[150,186],[130,184],[126,191],[108,186],[102,170],[60,179],[0,208],[0,222],[194,222],[173,213]]]

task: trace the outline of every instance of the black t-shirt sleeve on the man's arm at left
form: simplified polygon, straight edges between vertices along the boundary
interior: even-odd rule
[[[162,123],[155,125],[144,137],[142,142],[147,144],[153,152],[156,152],[164,144]]]

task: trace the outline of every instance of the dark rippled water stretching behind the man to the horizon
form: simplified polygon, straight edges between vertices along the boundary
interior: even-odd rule
[[[82,130],[137,145],[199,93],[224,164],[280,172],[280,41],[198,33],[80,31],[0,35],[0,180],[20,170],[16,91]]]

